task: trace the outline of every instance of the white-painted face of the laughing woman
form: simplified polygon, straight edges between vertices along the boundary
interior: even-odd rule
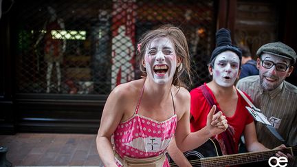
[[[173,43],[168,38],[155,38],[144,56],[147,77],[163,85],[172,82],[177,67]]]

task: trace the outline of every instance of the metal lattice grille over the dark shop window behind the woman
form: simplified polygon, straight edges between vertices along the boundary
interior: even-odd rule
[[[140,78],[135,48],[159,25],[188,39],[194,85],[209,80],[212,1],[17,1],[17,93],[108,94]]]

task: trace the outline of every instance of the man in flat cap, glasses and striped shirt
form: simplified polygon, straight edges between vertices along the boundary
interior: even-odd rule
[[[256,52],[259,76],[248,76],[236,87],[252,98],[290,146],[297,144],[297,87],[285,81],[292,74],[296,52],[281,42],[267,43]],[[263,124],[256,124],[259,142],[267,148],[281,144]]]

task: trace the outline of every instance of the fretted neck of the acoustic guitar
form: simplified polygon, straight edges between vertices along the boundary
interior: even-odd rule
[[[293,150],[295,151],[293,151]],[[285,154],[293,154],[296,152],[296,147],[289,147],[285,149],[275,149],[270,151],[256,151],[250,153],[241,153],[241,154],[234,154],[234,155],[223,155],[219,157],[207,157],[202,158],[199,160],[190,161],[192,164],[201,164],[201,166],[232,166],[232,165],[239,165],[239,164],[248,164],[252,162],[262,162],[265,160],[270,159],[270,157],[275,156],[275,154],[281,151]],[[198,162],[199,161],[199,162]],[[193,165],[192,164],[192,165]]]

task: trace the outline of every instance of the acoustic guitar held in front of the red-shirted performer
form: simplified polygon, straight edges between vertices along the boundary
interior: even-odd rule
[[[184,155],[192,166],[221,167],[267,161],[270,157],[275,156],[278,151],[285,154],[289,153],[291,155],[297,155],[297,146],[285,149],[274,149],[270,151],[255,151],[250,153],[222,155],[219,143],[216,140],[209,139],[198,148],[185,152]],[[170,166],[177,166],[170,157],[168,157],[168,159]]]

